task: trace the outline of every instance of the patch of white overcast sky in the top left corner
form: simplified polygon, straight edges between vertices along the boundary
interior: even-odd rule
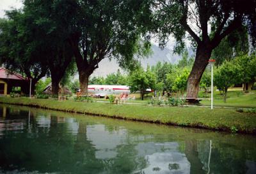
[[[4,10],[22,7],[21,0],[0,0],[0,17],[4,17]]]

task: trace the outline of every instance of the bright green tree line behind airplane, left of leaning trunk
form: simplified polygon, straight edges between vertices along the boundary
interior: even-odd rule
[[[182,59],[176,64],[161,63],[147,68],[136,66],[136,68],[122,75],[118,70],[116,73],[104,77],[92,77],[89,84],[115,84],[130,86],[131,92],[140,91],[143,100],[145,91],[152,89],[161,95],[186,91],[189,70],[193,65],[193,58],[188,58],[188,52],[182,55]]]

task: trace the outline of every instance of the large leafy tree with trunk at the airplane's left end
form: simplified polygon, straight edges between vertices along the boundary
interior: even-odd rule
[[[102,59],[116,58],[122,67],[127,67],[132,65],[135,53],[145,53],[140,52],[140,32],[133,21],[140,8],[138,1],[76,1],[69,42],[76,58],[81,93],[87,92],[88,79]]]

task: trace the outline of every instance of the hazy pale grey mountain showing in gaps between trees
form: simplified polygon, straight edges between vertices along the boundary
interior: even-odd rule
[[[152,44],[152,55],[148,56],[148,58],[141,59],[141,65],[143,67],[147,67],[147,65],[156,65],[158,61],[161,62],[168,62],[168,63],[178,63],[181,56],[177,54],[173,54],[171,49],[164,48],[163,50],[159,49],[157,45]],[[106,75],[116,72],[117,70],[121,69],[116,63],[115,59],[109,61],[109,59],[103,59],[99,63],[99,68],[97,68],[93,74],[93,76],[102,76],[106,77]]]

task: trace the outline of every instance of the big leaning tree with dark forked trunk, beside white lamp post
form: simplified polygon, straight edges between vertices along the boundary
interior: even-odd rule
[[[255,44],[255,0],[159,0],[152,4],[151,31],[159,36],[159,45],[164,46],[170,35],[176,39],[176,52],[184,49],[186,38],[195,43],[196,56],[188,77],[187,97],[197,97],[212,51],[225,36],[247,25]]]

